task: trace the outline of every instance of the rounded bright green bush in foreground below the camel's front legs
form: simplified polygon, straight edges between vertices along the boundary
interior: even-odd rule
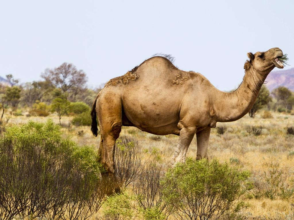
[[[188,158],[163,177],[163,199],[176,219],[219,219],[248,207],[242,196],[252,189],[249,176],[227,163]]]

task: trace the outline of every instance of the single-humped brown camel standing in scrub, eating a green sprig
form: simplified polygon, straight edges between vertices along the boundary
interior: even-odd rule
[[[122,126],[135,126],[155,135],[180,136],[171,162],[185,162],[196,134],[196,159],[208,158],[211,128],[236,121],[252,108],[265,78],[283,68],[279,48],[247,54],[243,82],[234,92],[222,92],[198,72],[183,71],[166,57],[155,56],[125,75],[108,81],[91,109],[91,131],[101,131],[98,153],[108,175],[114,175],[115,142]]]

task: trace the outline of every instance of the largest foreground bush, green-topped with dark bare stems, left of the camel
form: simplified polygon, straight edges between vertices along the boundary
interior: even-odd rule
[[[59,126],[29,121],[0,139],[0,217],[86,219],[101,207],[98,154],[61,138]]]

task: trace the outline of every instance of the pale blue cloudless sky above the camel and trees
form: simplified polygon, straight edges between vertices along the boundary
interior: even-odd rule
[[[69,62],[98,87],[166,53],[228,91],[242,81],[248,52],[279,47],[294,67],[293,22],[290,0],[0,0],[0,76],[31,82]]]

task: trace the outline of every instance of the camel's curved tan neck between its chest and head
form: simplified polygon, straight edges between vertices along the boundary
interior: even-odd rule
[[[245,71],[243,82],[237,90],[231,93],[218,93],[217,97],[214,97],[216,121],[236,121],[247,114],[258,96],[266,75],[261,75],[251,66]]]

